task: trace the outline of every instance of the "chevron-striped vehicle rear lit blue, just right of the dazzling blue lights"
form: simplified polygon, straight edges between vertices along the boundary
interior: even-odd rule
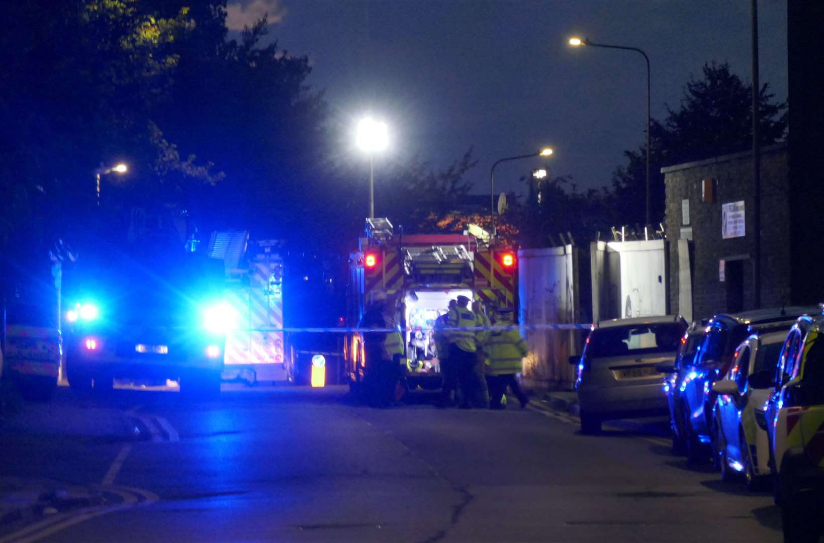
[[[250,382],[279,380],[288,349],[283,343],[283,242],[250,241],[249,232],[214,232],[208,255],[222,260],[231,313],[224,371]],[[273,331],[277,330],[277,331]]]

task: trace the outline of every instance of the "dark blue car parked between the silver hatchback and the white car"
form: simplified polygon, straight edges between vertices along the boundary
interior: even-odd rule
[[[733,363],[738,344],[753,333],[788,330],[798,316],[817,311],[811,307],[780,307],[744,311],[733,315],[719,314],[709,320],[704,336],[691,361],[675,367],[659,365],[660,371],[676,372],[671,378],[680,406],[681,429],[688,461],[712,460],[710,429],[715,399],[713,382],[723,377]]]

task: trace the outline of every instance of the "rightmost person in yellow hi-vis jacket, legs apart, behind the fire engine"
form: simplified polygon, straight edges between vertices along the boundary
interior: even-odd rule
[[[502,307],[495,311],[496,326],[512,326],[513,312],[511,307]],[[489,383],[490,409],[503,410],[501,403],[507,386],[521,402],[521,409],[529,404],[529,398],[521,390],[515,379],[515,374],[522,370],[522,358],[527,356],[527,342],[523,340],[518,330],[493,330],[489,335],[489,369],[486,381]]]

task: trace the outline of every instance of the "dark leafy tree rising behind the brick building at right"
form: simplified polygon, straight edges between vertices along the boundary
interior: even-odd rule
[[[728,63],[705,64],[701,79],[690,77],[677,110],[667,105],[663,123],[650,130],[650,191],[653,222],[663,220],[663,166],[697,161],[747,150],[752,145],[750,84],[730,71]],[[787,103],[775,102],[765,83],[759,92],[762,145],[776,143],[787,130]],[[610,208],[619,210],[620,224],[643,224],[645,217],[646,154],[644,147],[625,151],[627,163],[612,175]]]

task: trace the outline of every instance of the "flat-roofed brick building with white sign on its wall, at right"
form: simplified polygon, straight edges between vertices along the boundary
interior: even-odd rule
[[[662,168],[672,312],[700,319],[756,308],[751,152]],[[761,149],[761,307],[791,292],[789,160],[783,143]],[[811,301],[812,302],[812,301]]]

